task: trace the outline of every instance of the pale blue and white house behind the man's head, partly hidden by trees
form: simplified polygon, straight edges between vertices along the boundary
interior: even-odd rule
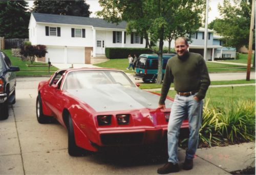
[[[222,57],[236,58],[236,48],[223,47],[222,37],[215,35],[214,32],[214,30],[208,29],[206,60]],[[164,46],[168,46],[167,41],[164,41]],[[175,41],[172,41],[171,47],[175,47]],[[189,52],[204,55],[204,28],[199,28],[196,33],[191,35]]]

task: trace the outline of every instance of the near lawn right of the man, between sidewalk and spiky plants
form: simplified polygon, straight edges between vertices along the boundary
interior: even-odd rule
[[[160,91],[157,91],[160,93]],[[174,97],[175,90],[170,90],[168,95]],[[223,105],[239,99],[251,99],[255,102],[255,86],[212,87],[207,90],[206,99],[210,98],[210,105]]]

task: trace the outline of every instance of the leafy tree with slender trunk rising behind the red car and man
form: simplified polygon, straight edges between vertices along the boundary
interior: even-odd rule
[[[114,23],[126,21],[127,33],[139,33],[145,38],[146,47],[158,54],[157,84],[161,84],[163,41],[195,32],[201,26],[205,0],[99,0],[99,4],[103,7],[99,16]],[[159,42],[158,51],[150,40]]]

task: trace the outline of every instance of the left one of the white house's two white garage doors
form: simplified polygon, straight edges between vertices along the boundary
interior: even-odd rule
[[[47,47],[47,52],[46,62],[48,62],[48,58],[50,58],[52,63],[64,63],[64,48]]]

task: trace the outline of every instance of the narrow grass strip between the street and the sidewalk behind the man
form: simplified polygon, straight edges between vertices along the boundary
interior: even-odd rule
[[[255,79],[250,81],[246,80],[225,80],[225,81],[211,81],[211,85],[231,85],[231,84],[248,84],[255,83]],[[171,84],[171,87],[174,87],[174,84]],[[155,83],[140,83],[140,89],[156,89],[162,88],[162,85],[158,85]]]

